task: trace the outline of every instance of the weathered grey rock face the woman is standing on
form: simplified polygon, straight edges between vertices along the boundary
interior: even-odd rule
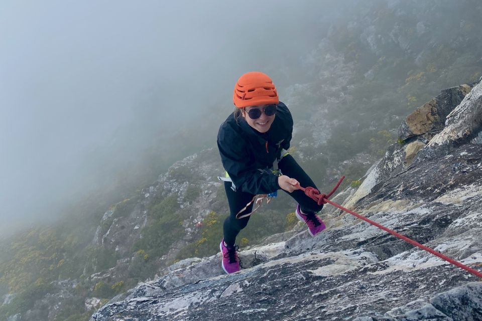
[[[480,131],[479,86],[447,113],[454,120],[421,149],[430,153],[420,157],[422,146],[412,145],[415,161],[400,167],[403,153],[389,150],[367,176],[373,180],[368,193],[347,203],[481,270],[482,144],[473,143]],[[445,130],[452,124],[470,135],[452,135]],[[389,164],[397,171],[382,172]],[[313,238],[303,229],[286,241],[240,252],[244,269],[238,273],[224,275],[219,254],[191,260],[104,306],[91,320],[482,319],[482,282],[474,275],[349,214],[324,218],[328,229]]]

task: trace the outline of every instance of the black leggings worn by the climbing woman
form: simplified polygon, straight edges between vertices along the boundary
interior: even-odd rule
[[[281,159],[281,161],[278,163],[278,167],[283,175],[297,180],[300,182],[301,186],[311,186],[316,188],[315,183],[313,183],[310,177],[305,173],[305,171],[303,171],[298,163],[296,163],[295,159],[290,154]],[[229,182],[224,182],[224,189],[226,190],[229,211],[231,212],[230,216],[226,218],[223,225],[224,242],[226,242],[226,244],[229,246],[233,246],[237,234],[239,234],[239,232],[246,227],[248,221],[250,220],[250,216],[242,219],[236,219],[236,214],[253,199],[254,195],[242,191],[234,192],[231,190],[231,183]],[[323,207],[323,205],[318,205],[315,201],[306,196],[301,190],[293,191],[292,193],[288,193],[288,195],[298,202],[303,213],[315,214]],[[243,211],[243,213],[250,213],[252,209],[253,204]]]

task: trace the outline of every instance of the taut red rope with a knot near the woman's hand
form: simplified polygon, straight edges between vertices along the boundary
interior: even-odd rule
[[[302,190],[303,192],[305,192],[305,194],[306,194],[308,197],[310,197],[310,198],[313,199],[315,202],[317,202],[318,205],[329,203],[329,204],[331,204],[331,205],[339,208],[340,210],[343,210],[343,211],[345,211],[345,212],[347,212],[347,213],[350,213],[350,214],[353,215],[353,216],[356,216],[356,217],[359,218],[360,220],[364,220],[365,222],[368,222],[368,223],[370,223],[370,224],[372,224],[372,225],[375,225],[375,226],[378,227],[379,229],[382,229],[382,230],[384,230],[384,231],[386,231],[386,232],[388,232],[388,233],[390,233],[390,234],[392,234],[392,235],[395,235],[395,236],[398,237],[399,239],[402,239],[402,240],[404,240],[404,241],[406,241],[406,242],[408,242],[408,243],[410,243],[410,244],[412,244],[412,245],[414,245],[414,246],[417,246],[417,247],[421,248],[422,250],[425,250],[425,251],[427,251],[427,252],[429,252],[429,253],[432,253],[433,255],[436,255],[436,256],[438,256],[439,258],[441,258],[441,259],[443,259],[443,260],[445,260],[445,261],[447,261],[447,262],[449,262],[449,263],[451,263],[451,264],[453,264],[453,265],[456,265],[456,266],[458,266],[458,267],[460,267],[460,268],[462,268],[462,269],[464,269],[464,270],[472,273],[472,274],[475,275],[475,276],[478,276],[478,277],[482,278],[482,273],[480,273],[479,271],[477,271],[477,270],[475,270],[475,269],[473,269],[473,268],[471,268],[471,267],[468,267],[468,266],[466,266],[466,265],[464,265],[464,264],[462,264],[462,263],[460,263],[460,262],[458,262],[458,261],[456,261],[456,260],[454,260],[454,259],[446,256],[446,255],[443,255],[443,254],[440,253],[440,252],[437,252],[437,251],[435,251],[435,250],[432,250],[431,248],[429,248],[429,247],[427,247],[427,246],[425,246],[425,245],[422,245],[422,244],[420,244],[420,243],[418,243],[418,242],[416,242],[416,241],[414,241],[414,240],[412,240],[412,239],[409,239],[408,237],[406,237],[406,236],[404,236],[404,235],[402,235],[402,234],[400,234],[400,233],[397,233],[397,232],[395,232],[395,231],[393,231],[393,230],[391,230],[391,229],[389,229],[389,228],[386,228],[385,226],[380,225],[380,224],[378,224],[377,222],[374,222],[374,221],[372,221],[372,220],[370,220],[370,219],[368,219],[368,218],[366,218],[366,217],[364,217],[364,216],[362,216],[362,215],[359,215],[358,213],[355,213],[355,212],[353,212],[353,211],[350,211],[350,210],[342,207],[341,205],[339,205],[339,204],[337,204],[337,203],[335,203],[335,202],[332,202],[332,201],[328,200],[328,198],[329,198],[329,197],[336,191],[336,189],[340,186],[341,181],[343,181],[344,178],[345,178],[344,176],[341,177],[341,179],[338,181],[338,184],[336,184],[335,188],[334,188],[328,195],[320,194],[320,192],[319,192],[317,189],[312,188],[312,187],[303,188],[303,187],[301,187],[299,184],[297,185],[297,187],[298,187],[300,190]]]

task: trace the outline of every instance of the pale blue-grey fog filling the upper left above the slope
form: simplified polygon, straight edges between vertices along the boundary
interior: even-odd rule
[[[125,168],[160,129],[203,122],[212,104],[225,104],[227,115],[241,74],[279,70],[277,85],[289,84],[283,64],[317,45],[327,8],[318,1],[2,2],[0,232],[50,221],[77,195],[107,186],[95,181],[106,162]],[[121,134],[131,139],[121,153],[92,152]]]

